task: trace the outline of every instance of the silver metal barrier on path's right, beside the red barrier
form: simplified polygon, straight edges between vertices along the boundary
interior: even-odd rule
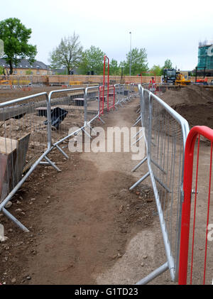
[[[172,280],[177,281],[184,151],[189,126],[180,114],[155,94],[143,89],[141,85],[138,85],[138,89],[140,109],[134,126],[141,124],[144,129],[146,157],[132,171],[136,171],[147,161],[148,173],[132,185],[130,190],[150,176],[167,257],[163,266],[138,284],[148,283],[168,269]],[[138,134],[136,138],[137,136]]]

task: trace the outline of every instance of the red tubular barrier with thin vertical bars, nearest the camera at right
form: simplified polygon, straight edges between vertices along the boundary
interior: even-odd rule
[[[212,144],[213,130],[207,126],[194,126],[187,136],[179,284],[212,284]]]

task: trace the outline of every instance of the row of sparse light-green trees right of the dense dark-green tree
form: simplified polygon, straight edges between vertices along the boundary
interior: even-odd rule
[[[99,47],[91,45],[87,50],[83,50],[80,37],[73,33],[68,38],[62,38],[58,47],[50,53],[50,66],[57,69],[66,67],[68,74],[72,74],[74,69],[82,75],[103,74],[103,60],[106,55]],[[163,75],[164,68],[172,68],[172,62],[167,59],[163,67],[153,65],[148,68],[147,53],[145,48],[133,48],[126,54],[126,60],[118,62],[112,58],[109,62],[109,75],[129,75],[131,65],[131,75]]]

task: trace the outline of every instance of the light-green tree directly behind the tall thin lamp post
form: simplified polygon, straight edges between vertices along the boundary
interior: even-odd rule
[[[129,75],[129,66],[131,62],[131,75],[136,76],[141,72],[148,71],[147,54],[145,48],[134,48],[126,54],[126,61],[121,62],[124,66],[124,74]]]

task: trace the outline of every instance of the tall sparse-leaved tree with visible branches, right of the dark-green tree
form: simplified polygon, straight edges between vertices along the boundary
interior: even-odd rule
[[[82,49],[79,36],[75,32],[68,38],[62,38],[58,47],[50,53],[51,67],[67,67],[67,72],[70,74],[75,67],[80,65]]]

